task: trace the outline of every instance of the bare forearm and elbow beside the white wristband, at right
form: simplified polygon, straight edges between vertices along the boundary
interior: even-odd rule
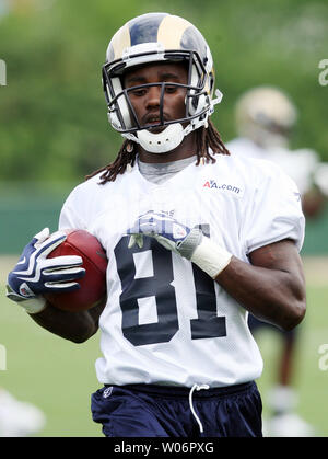
[[[304,285],[294,274],[233,256],[215,282],[254,315],[283,330],[292,330],[304,318]]]

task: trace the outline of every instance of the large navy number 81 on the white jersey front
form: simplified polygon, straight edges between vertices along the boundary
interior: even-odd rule
[[[209,226],[200,226],[209,233]],[[122,237],[116,245],[117,272],[121,282],[120,308],[124,336],[134,346],[166,343],[179,330],[173,275],[172,252],[155,239],[143,238],[142,249],[128,249],[129,237]],[[153,276],[136,278],[133,254],[151,251]],[[198,319],[190,320],[191,340],[226,336],[225,317],[218,317],[214,282],[192,264]],[[155,297],[157,322],[139,324],[138,299]]]

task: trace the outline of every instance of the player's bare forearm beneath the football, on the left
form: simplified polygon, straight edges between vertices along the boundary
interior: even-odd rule
[[[39,313],[30,314],[43,329],[74,343],[83,343],[96,333],[99,314],[93,311],[93,315],[89,311],[62,311],[49,303]]]

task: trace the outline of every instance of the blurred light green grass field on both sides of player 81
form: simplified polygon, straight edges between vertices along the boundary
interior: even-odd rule
[[[99,387],[94,370],[95,359],[101,355],[99,336],[85,344],[67,342],[37,326],[7,300],[4,278],[15,260],[0,257],[0,344],[7,351],[7,370],[0,370],[0,386],[45,412],[47,424],[38,436],[102,436],[90,413],[90,395]],[[308,306],[298,332],[295,378],[298,413],[314,425],[316,436],[328,436],[328,369],[319,368],[323,356],[318,352],[321,344],[328,343],[328,262],[309,261],[305,266]],[[258,342],[265,359],[258,385],[265,399],[276,379],[281,341],[278,333],[263,332]]]

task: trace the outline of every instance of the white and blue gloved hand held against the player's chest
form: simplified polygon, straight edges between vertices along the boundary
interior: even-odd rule
[[[129,228],[130,234],[129,249],[136,243],[142,248],[143,237],[149,236],[156,239],[165,249],[179,253],[190,260],[197,245],[200,244],[202,232],[199,228],[188,228],[165,211],[153,211],[141,215]]]

